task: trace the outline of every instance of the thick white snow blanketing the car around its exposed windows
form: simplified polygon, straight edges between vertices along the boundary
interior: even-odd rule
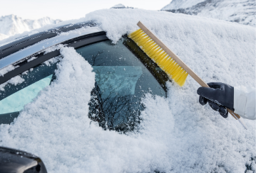
[[[205,82],[255,86],[255,28],[165,11],[106,9],[93,20],[117,43],[142,21]],[[77,22],[77,21],[73,21]],[[78,31],[79,32],[79,31]],[[145,96],[138,132],[101,129],[88,118],[95,82],[91,65],[73,48],[61,48],[57,79],[24,106],[11,125],[0,125],[0,145],[41,157],[48,172],[255,171],[255,121],[244,130],[200,106],[191,77],[168,83],[168,98]]]

